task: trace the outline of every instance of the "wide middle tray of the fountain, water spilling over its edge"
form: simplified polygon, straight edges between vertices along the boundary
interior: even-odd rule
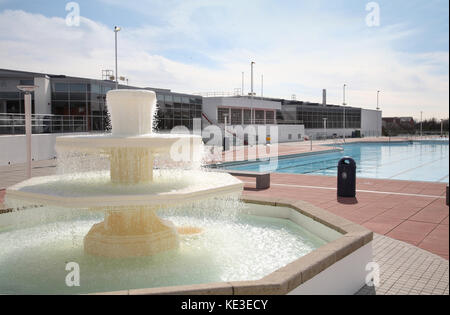
[[[140,185],[112,183],[109,172],[34,177],[6,190],[14,200],[69,208],[104,210],[111,206],[168,206],[240,193],[243,183],[226,173],[154,170],[155,181]]]

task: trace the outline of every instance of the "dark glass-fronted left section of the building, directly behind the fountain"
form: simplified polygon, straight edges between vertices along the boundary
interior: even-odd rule
[[[24,133],[24,97],[18,85],[38,86],[32,97],[34,133],[90,132],[108,128],[106,93],[115,88],[115,82],[0,69],[0,134]],[[119,85],[119,88],[156,92],[159,106],[156,127],[160,130],[171,130],[178,125],[192,129],[193,119],[201,117],[200,96],[128,85]]]

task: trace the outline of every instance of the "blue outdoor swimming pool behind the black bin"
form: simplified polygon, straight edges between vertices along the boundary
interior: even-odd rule
[[[279,158],[270,170],[336,176],[338,161],[350,156],[356,161],[358,177],[448,183],[448,144],[448,141],[345,144],[339,146],[343,149],[340,152]],[[267,161],[260,161],[224,165],[224,168],[258,172],[268,165]]]

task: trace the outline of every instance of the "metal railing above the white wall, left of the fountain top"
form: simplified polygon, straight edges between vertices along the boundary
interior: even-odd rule
[[[31,115],[33,134],[104,131],[107,116]],[[0,135],[25,134],[25,114],[0,113]]]

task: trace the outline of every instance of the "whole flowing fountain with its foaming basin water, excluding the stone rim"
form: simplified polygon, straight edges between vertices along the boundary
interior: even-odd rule
[[[152,132],[153,92],[110,91],[107,104],[111,134],[57,138],[61,156],[100,156],[95,169],[62,160],[65,172],[7,189],[7,206],[25,210],[0,215],[0,293],[255,280],[325,243],[246,215],[243,183],[229,174],[162,167],[199,165],[202,142]],[[64,283],[68,262],[80,265],[79,288]]]

